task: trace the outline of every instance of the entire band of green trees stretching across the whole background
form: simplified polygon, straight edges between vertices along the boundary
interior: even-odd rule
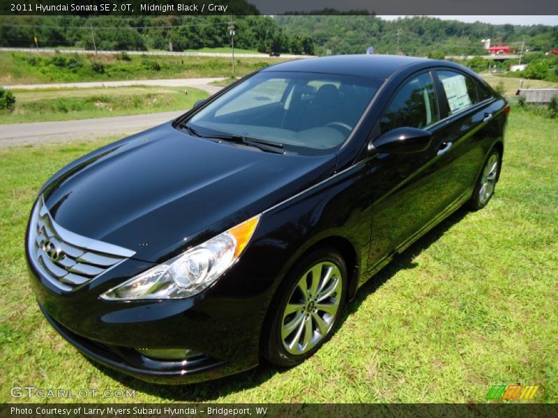
[[[230,17],[180,15],[0,17],[0,46],[174,51],[230,45]],[[482,39],[549,51],[558,26],[464,23],[432,17],[382,20],[375,15],[234,16],[234,43],[259,52],[293,54],[483,54]]]

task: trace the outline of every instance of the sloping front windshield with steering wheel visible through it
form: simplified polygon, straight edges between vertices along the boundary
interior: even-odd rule
[[[365,77],[264,71],[185,123],[204,137],[253,139],[319,155],[342,146],[380,85]]]

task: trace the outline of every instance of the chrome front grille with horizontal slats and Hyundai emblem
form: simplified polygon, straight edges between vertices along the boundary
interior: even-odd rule
[[[63,291],[75,291],[134,251],[77,235],[54,222],[39,196],[29,227],[29,254],[43,276]]]

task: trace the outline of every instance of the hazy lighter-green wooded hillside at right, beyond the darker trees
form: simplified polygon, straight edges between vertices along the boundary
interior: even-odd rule
[[[490,38],[492,45],[511,45],[518,51],[524,40],[526,49],[549,51],[558,47],[558,26],[464,23],[432,17],[388,21],[372,15],[296,15],[277,16],[275,20],[286,36],[311,37],[317,54],[325,54],[326,49],[333,54],[363,54],[369,46],[380,54],[483,54],[481,40],[485,38]]]

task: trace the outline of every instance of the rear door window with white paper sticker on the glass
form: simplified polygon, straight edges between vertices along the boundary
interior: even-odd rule
[[[446,93],[449,114],[455,114],[478,103],[476,88],[472,79],[460,72],[449,70],[439,70],[437,74],[444,87],[444,93]]]

